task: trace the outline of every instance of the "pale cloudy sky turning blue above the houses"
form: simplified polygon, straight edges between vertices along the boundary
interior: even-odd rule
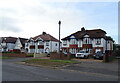
[[[0,0],[0,36],[30,38],[43,31],[58,39],[85,29],[103,29],[118,42],[118,2]]]

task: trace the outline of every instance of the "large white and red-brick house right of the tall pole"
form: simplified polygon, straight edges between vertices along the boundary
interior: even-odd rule
[[[77,31],[62,40],[62,51],[76,54],[80,50],[84,50],[91,54],[97,51],[105,53],[106,50],[113,50],[113,39],[106,36],[106,32],[102,29]]]

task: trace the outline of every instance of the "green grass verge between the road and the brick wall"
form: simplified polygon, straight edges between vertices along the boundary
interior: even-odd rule
[[[31,59],[23,62],[27,64],[50,66],[50,67],[58,67],[58,66],[78,63],[77,61],[74,60],[50,60],[50,59]]]

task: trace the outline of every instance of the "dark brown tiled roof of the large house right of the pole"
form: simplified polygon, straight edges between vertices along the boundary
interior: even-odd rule
[[[102,29],[81,30],[63,38],[62,40],[67,40],[72,35],[77,39],[82,39],[85,35],[89,35],[90,38],[104,38],[105,34],[106,32]]]

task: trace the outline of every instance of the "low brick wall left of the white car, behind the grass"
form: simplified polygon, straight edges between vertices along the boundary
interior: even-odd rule
[[[63,53],[51,53],[50,59],[61,59],[61,60],[70,60],[71,55],[70,54],[63,54]]]

